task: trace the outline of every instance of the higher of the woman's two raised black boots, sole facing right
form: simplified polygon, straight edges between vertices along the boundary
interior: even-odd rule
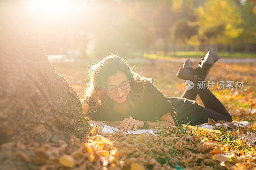
[[[198,77],[201,81],[204,81],[204,78],[209,73],[210,68],[212,65],[219,60],[220,56],[213,51],[208,51],[208,53],[201,58],[202,61],[196,67],[196,72],[198,73]]]

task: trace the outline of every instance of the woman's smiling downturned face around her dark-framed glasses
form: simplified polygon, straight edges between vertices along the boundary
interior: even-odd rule
[[[108,77],[107,86],[108,85],[119,86],[125,80],[128,80],[127,76],[123,72],[118,71],[116,73],[116,75],[111,75],[111,76]],[[109,98],[115,100],[117,103],[124,103],[128,94],[129,94],[129,92],[130,92],[130,87],[128,87],[125,90],[118,87],[116,92],[114,92],[114,93],[108,93],[107,92],[107,94],[108,94]]]

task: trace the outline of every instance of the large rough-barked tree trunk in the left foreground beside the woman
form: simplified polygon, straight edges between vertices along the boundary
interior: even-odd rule
[[[2,1],[0,16],[0,144],[83,137],[80,100],[50,64],[26,5]]]

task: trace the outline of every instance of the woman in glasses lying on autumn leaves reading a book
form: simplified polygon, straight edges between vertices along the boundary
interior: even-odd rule
[[[205,63],[204,71],[206,66],[210,67],[207,64],[211,59],[208,63],[206,59],[201,62]],[[191,63],[187,60],[177,76],[197,83],[204,79],[205,74],[200,72],[202,68],[197,68],[198,72],[193,70]],[[195,102],[197,93],[206,108]],[[83,111],[89,120],[122,121],[119,129],[126,132],[137,128],[175,126],[187,121],[196,125],[207,122],[208,118],[232,121],[225,107],[208,89],[185,90],[180,98],[167,99],[150,78],[136,74],[116,55],[108,56],[89,68],[84,101]]]

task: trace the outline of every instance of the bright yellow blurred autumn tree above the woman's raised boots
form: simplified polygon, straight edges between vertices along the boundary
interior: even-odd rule
[[[198,40],[212,48],[213,43],[232,43],[242,32],[241,12],[235,1],[208,0],[197,9]],[[208,50],[208,49],[207,49]]]

